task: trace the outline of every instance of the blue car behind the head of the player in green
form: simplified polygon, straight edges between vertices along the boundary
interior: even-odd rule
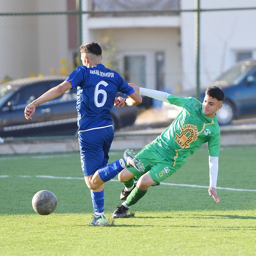
[[[256,60],[237,62],[212,85],[225,93],[222,108],[217,111],[219,125],[230,124],[243,115],[256,115]]]

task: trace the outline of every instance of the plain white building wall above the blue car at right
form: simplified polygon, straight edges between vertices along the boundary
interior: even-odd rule
[[[254,0],[201,0],[202,9],[256,7]],[[195,1],[181,0],[182,9]],[[201,13],[201,87],[231,67],[239,51],[256,49],[256,10]],[[181,13],[183,90],[196,87],[195,13]]]

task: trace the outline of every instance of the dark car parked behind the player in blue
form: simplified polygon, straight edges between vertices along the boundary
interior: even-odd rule
[[[76,90],[37,107],[32,120],[26,120],[24,109],[34,99],[60,84],[65,77],[36,77],[0,85],[0,137],[75,135],[77,132]],[[118,93],[117,96],[124,96]],[[114,129],[132,125],[138,108],[114,107],[110,111]]]

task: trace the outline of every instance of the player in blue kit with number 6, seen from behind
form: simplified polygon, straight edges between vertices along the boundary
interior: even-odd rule
[[[142,102],[142,98],[119,73],[102,64],[102,49],[98,43],[83,44],[80,52],[83,65],[76,68],[64,82],[28,104],[24,112],[26,119],[32,119],[38,105],[77,88],[81,167],[94,208],[94,218],[89,225],[100,226],[108,224],[104,215],[104,182],[114,178],[125,167],[133,166],[138,171],[144,171],[132,150],[126,150],[123,158],[107,165],[114,137],[110,110],[114,104],[119,108],[135,106]],[[124,93],[128,98],[116,98],[117,92]]]

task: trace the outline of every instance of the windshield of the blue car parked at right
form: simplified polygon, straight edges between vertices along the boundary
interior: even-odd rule
[[[231,84],[238,84],[253,67],[255,67],[255,64],[250,61],[237,63],[234,67],[230,68],[218,77],[214,81],[214,85],[228,86]]]

